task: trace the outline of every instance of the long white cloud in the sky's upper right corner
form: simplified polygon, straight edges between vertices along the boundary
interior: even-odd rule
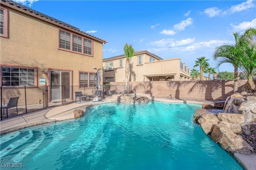
[[[253,3],[252,0],[247,0],[246,2],[242,2],[241,4],[237,4],[237,5],[233,5],[231,6],[231,8],[227,9],[227,10],[220,10],[217,7],[211,7],[211,8],[207,8],[204,10],[204,13],[207,14],[210,17],[214,17],[214,16],[223,16],[223,15],[227,15],[227,14],[233,14],[236,12],[241,12],[250,8],[254,8],[255,4]]]

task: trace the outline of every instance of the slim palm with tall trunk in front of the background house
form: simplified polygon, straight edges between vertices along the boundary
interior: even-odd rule
[[[125,64],[125,84],[128,85],[128,74],[130,72],[130,60],[134,55],[134,49],[131,44],[125,43],[124,45],[124,57],[126,58]]]

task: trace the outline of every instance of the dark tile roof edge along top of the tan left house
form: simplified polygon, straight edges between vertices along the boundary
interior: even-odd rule
[[[92,37],[92,38],[95,38],[95,39],[99,40],[100,42],[107,43],[106,40],[97,38],[97,37],[95,37],[95,36],[92,36],[92,35],[90,35],[90,34],[87,34],[86,32],[82,32],[82,31],[80,31],[79,28],[76,28],[76,27],[74,27],[74,26],[72,26],[72,25],[70,25],[70,24],[67,24],[67,23],[62,22],[62,21],[60,21],[60,20],[57,20],[57,19],[55,19],[55,18],[52,18],[52,17],[50,17],[50,16],[48,16],[48,15],[42,14],[41,12],[38,12],[38,11],[36,11],[36,10],[33,10],[33,9],[31,9],[31,8],[28,8],[28,7],[26,7],[26,6],[23,6],[23,5],[21,5],[21,4],[18,4],[18,3],[16,3],[16,2],[12,1],[12,0],[1,0],[1,4],[5,4],[5,3],[3,3],[3,2],[5,2],[5,3],[7,3],[7,4],[11,5],[11,6],[14,6],[14,7],[16,7],[16,8],[20,8],[20,9],[22,9],[22,10],[24,10],[24,11],[30,12],[32,15],[34,14],[34,15],[36,15],[36,16],[40,16],[40,17],[42,17],[42,18],[44,18],[44,19],[46,19],[46,20],[55,22],[55,23],[57,23],[57,24],[60,24],[60,25],[62,25],[62,26],[68,27],[68,28],[71,28],[71,29],[73,29],[73,30],[76,30],[76,31],[82,33],[82,34],[86,34],[87,36]]]

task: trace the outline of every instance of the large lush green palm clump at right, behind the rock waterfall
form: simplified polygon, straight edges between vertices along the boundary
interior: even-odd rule
[[[256,73],[256,30],[250,28],[240,36],[233,33],[235,45],[221,45],[215,49],[214,59],[218,61],[217,67],[222,63],[231,63],[234,66],[234,93],[238,90],[238,68],[240,68],[248,77],[247,85],[250,85],[251,92],[255,88],[252,83],[252,77]]]

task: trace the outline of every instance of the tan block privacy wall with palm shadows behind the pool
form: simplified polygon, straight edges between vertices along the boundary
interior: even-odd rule
[[[246,80],[238,81],[240,91]],[[254,80],[256,84],[256,81]],[[124,85],[124,82],[111,82],[112,85]],[[226,100],[233,94],[234,81],[142,81],[129,82],[132,93],[148,93],[155,97],[172,97],[181,99]],[[114,87],[113,87],[114,89]]]

